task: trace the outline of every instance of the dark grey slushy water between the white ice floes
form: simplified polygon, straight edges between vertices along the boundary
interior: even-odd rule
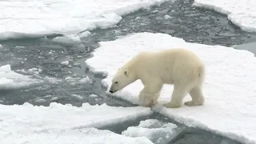
[[[121,99],[108,97],[105,94],[106,88],[101,85],[104,75],[91,74],[84,63],[86,58],[90,58],[91,51],[98,47],[98,42],[114,40],[119,35],[138,32],[166,33],[183,38],[186,42],[222,46],[256,41],[256,34],[240,30],[227,21],[225,15],[195,8],[191,6],[192,2],[165,2],[161,6],[138,10],[123,17],[117,26],[92,31],[89,37],[82,38],[82,42],[54,42],[54,37],[0,42],[4,46],[4,49],[0,50],[0,66],[10,64],[12,70],[28,75],[33,74],[22,73],[20,70],[38,68],[42,71],[34,77],[50,77],[57,80],[49,82],[44,79],[45,82],[37,86],[0,90],[0,103],[13,105],[30,102],[34,105],[49,106],[50,102],[59,102],[81,106],[82,103],[89,102],[92,105],[106,103],[109,106],[133,106]],[[63,61],[69,61],[70,64],[62,65]],[[70,81],[68,77],[73,79]],[[90,78],[90,82],[79,83],[79,80],[86,77]],[[97,97],[90,97],[91,94],[96,94]],[[160,114],[153,114],[148,118],[172,122]],[[122,130],[138,125],[141,120],[115,123],[102,129],[121,134]],[[183,127],[181,133],[170,143],[237,143],[205,130]]]

